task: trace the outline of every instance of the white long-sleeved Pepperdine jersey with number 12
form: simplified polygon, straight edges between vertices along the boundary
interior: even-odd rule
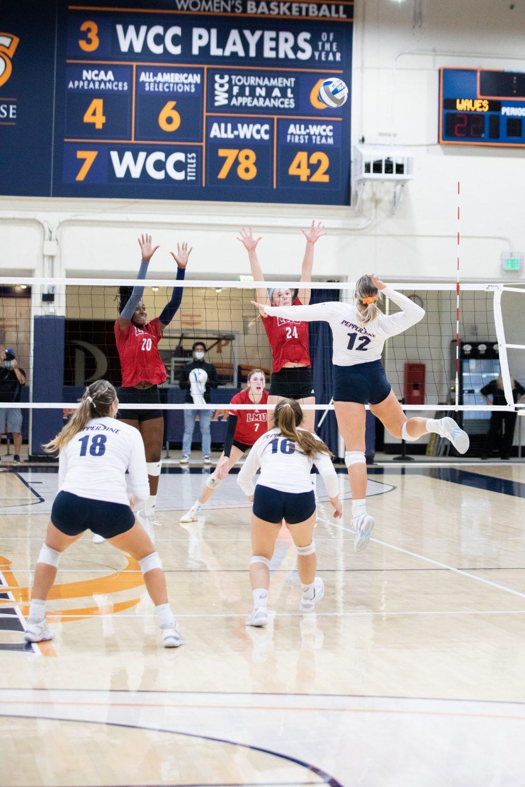
[[[335,366],[355,366],[379,360],[386,338],[402,334],[407,328],[419,323],[425,315],[424,309],[391,287],[386,286],[382,292],[401,306],[402,311],[381,314],[368,325],[361,322],[357,306],[341,301],[312,306],[265,306],[264,310],[269,315],[287,317],[288,320],[324,320],[330,323],[334,337],[332,363]]]

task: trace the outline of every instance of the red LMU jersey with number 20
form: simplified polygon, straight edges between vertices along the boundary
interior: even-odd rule
[[[165,382],[166,368],[157,349],[157,344],[162,338],[158,317],[150,320],[143,328],[129,323],[124,331],[120,331],[117,320],[115,338],[122,368],[123,386],[136,386],[139,382],[160,385],[161,382]]]

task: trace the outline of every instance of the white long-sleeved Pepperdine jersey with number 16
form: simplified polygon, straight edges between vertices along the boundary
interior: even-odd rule
[[[305,430],[300,430],[305,431]],[[316,435],[315,435],[316,436]],[[317,438],[320,441],[320,438]],[[252,478],[261,467],[258,484],[279,492],[310,492],[313,489],[312,466],[323,476],[330,497],[338,493],[338,479],[330,456],[319,453],[315,459],[305,456],[293,440],[283,437],[279,429],[271,429],[253,444],[242,465],[237,482],[248,496],[253,494]]]

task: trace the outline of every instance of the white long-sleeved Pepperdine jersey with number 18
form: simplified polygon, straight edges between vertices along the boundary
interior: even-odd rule
[[[61,450],[58,489],[91,500],[129,505],[150,494],[144,443],[138,429],[115,418],[92,418]]]

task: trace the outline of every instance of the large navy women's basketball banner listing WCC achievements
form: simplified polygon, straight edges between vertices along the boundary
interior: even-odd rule
[[[352,2],[121,5],[2,0],[2,194],[349,205]]]

